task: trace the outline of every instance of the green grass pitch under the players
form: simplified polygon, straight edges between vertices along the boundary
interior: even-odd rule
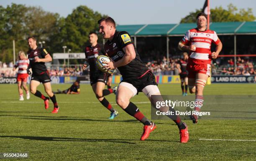
[[[53,90],[70,84],[54,84]],[[38,87],[43,91],[42,85]],[[179,84],[160,84],[163,95],[180,95]],[[89,84],[81,84],[80,95],[56,95],[58,114],[53,105],[44,110],[41,99],[18,101],[17,84],[0,84],[0,153],[28,152],[31,161],[235,161],[255,160],[255,141],[207,141],[208,139],[256,140],[256,120],[199,120],[185,122],[190,139],[179,143],[179,130],[171,120],[155,120],[156,130],[140,141],[143,125],[112,102],[119,115],[97,101]],[[43,92],[45,93],[45,92]],[[211,84],[204,95],[256,95],[256,84]],[[148,102],[143,93],[132,102]],[[150,118],[150,103],[137,104]],[[243,106],[237,110],[243,111]],[[3,161],[5,161],[3,160]]]

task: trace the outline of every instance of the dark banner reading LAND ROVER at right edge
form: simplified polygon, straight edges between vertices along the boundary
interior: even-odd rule
[[[211,77],[212,83],[255,83],[256,76],[232,76],[232,75],[213,75]]]

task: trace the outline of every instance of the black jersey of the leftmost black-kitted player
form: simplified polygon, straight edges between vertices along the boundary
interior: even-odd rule
[[[35,50],[29,49],[28,52],[29,66],[31,66],[33,74],[41,75],[47,72],[44,62],[35,62],[35,57],[43,59],[48,54],[46,49],[37,47]]]

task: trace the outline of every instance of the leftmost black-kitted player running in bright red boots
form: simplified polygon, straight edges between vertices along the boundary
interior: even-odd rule
[[[54,110],[51,113],[58,113],[59,107],[54,93],[51,91],[51,79],[45,66],[45,62],[52,61],[50,54],[46,49],[40,48],[36,45],[36,38],[28,37],[28,59],[32,69],[32,76],[30,81],[30,92],[36,97],[44,100],[45,109],[49,108],[49,97],[54,104]],[[43,83],[44,90],[49,97],[44,96],[36,88]]]

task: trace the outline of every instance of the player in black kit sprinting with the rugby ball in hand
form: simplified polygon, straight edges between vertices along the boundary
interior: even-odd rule
[[[116,31],[115,21],[110,17],[102,18],[98,23],[103,38],[108,39],[104,46],[105,51],[112,59],[110,62],[103,62],[107,64],[105,69],[118,68],[123,77],[117,89],[116,102],[125,112],[143,123],[144,131],[141,135],[143,141],[156,128],[156,124],[148,120],[138,107],[130,102],[130,99],[138,92],[143,92],[149,100],[151,95],[160,95],[154,74],[141,61],[129,33]],[[151,101],[154,102],[154,100]],[[180,130],[180,141],[186,143],[189,139],[187,125],[182,123],[179,116],[174,119],[174,122]]]

